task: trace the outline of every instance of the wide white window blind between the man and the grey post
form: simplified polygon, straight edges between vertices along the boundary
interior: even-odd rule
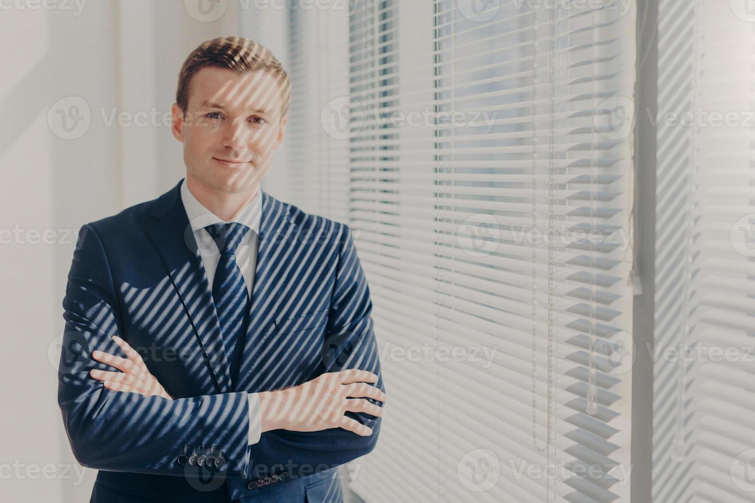
[[[634,11],[547,5],[362,0],[344,95],[291,66],[326,143],[286,141],[345,149],[292,162],[291,201],[343,212],[374,305],[365,501],[629,501]],[[322,61],[298,26],[289,59]]]

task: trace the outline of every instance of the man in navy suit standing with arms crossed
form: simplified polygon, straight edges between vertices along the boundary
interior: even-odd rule
[[[79,233],[58,403],[100,469],[91,501],[341,501],[336,467],[374,448],[385,394],[350,229],[260,189],[289,88],[253,41],[200,45],[173,106],[186,178]]]

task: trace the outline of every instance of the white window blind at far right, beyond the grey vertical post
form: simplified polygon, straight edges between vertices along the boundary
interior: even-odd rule
[[[654,501],[755,498],[755,16],[725,3],[658,5]]]

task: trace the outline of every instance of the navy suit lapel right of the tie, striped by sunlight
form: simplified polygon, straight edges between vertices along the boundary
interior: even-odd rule
[[[276,198],[262,192],[262,219],[257,244],[257,265],[254,268],[254,286],[251,294],[249,325],[234,391],[248,389],[261,343],[273,335],[276,306],[279,305],[277,287],[285,281],[283,264],[286,250],[297,242],[297,225],[288,220],[288,207]]]

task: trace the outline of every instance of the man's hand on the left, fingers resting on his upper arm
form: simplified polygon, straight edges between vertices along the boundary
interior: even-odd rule
[[[127,359],[103,351],[93,351],[92,357],[95,360],[120,370],[120,372],[106,372],[92,369],[89,374],[94,379],[103,381],[105,388],[113,391],[130,391],[131,393],[143,394],[146,397],[157,395],[173,400],[173,397],[165,391],[165,388],[162,387],[155,376],[149,373],[141,355],[134,351],[128,345],[128,342],[125,342],[119,336],[112,336],[112,340],[116,341],[116,344],[121,347]]]

